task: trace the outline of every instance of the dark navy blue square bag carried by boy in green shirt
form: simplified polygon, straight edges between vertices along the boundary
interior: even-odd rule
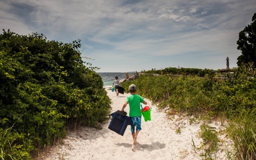
[[[131,125],[132,124],[132,120],[129,116],[126,115],[121,115],[120,114],[121,111],[116,111],[114,113],[111,113],[109,115],[112,116],[111,122],[109,123],[108,128],[118,134],[120,134],[121,136],[124,135],[124,132],[127,128],[127,125]]]

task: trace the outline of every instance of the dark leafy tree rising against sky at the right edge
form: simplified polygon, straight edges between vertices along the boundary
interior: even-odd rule
[[[252,16],[252,22],[239,32],[237,45],[237,49],[242,52],[242,55],[237,57],[237,65],[252,62],[256,68],[256,13]]]

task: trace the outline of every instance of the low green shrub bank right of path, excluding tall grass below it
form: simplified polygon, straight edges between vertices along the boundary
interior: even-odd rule
[[[234,70],[234,69],[233,69]],[[255,69],[249,65],[235,69],[234,75],[223,74],[225,79],[206,75],[204,78],[188,75],[142,74],[138,80],[127,81],[138,86],[138,94],[146,96],[159,107],[170,107],[189,114],[211,111],[231,116],[241,108],[249,110],[256,105]],[[126,89],[127,90],[127,89]]]

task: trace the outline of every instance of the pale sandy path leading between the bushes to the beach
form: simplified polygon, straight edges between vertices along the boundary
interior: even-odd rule
[[[130,94],[119,94],[106,88],[107,95],[113,104],[112,111],[121,110],[125,97]],[[151,102],[145,99],[150,105]],[[166,114],[151,105],[151,121],[145,122],[142,117],[142,130],[137,138],[137,151],[132,151],[132,136],[128,125],[124,136],[108,129],[108,123],[102,129],[81,127],[76,131],[69,131],[64,144],[51,147],[50,151],[39,156],[38,159],[203,159],[202,138],[198,132],[202,122],[189,124],[188,117],[173,116],[167,119]],[[129,105],[125,111],[129,113]],[[209,124],[219,132],[224,129],[220,122]],[[180,129],[180,133],[178,133]],[[225,135],[219,136],[221,145],[226,140]],[[194,141],[194,145],[193,145]],[[226,159],[225,150],[220,146],[216,159]]]

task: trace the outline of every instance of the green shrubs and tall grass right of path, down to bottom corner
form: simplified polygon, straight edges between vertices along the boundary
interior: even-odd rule
[[[172,74],[142,74],[134,83],[138,94],[149,98],[169,114],[183,113],[189,117],[227,117],[228,134],[234,140],[238,159],[256,158],[256,71],[253,64],[224,73],[224,79],[205,75],[204,78]]]

